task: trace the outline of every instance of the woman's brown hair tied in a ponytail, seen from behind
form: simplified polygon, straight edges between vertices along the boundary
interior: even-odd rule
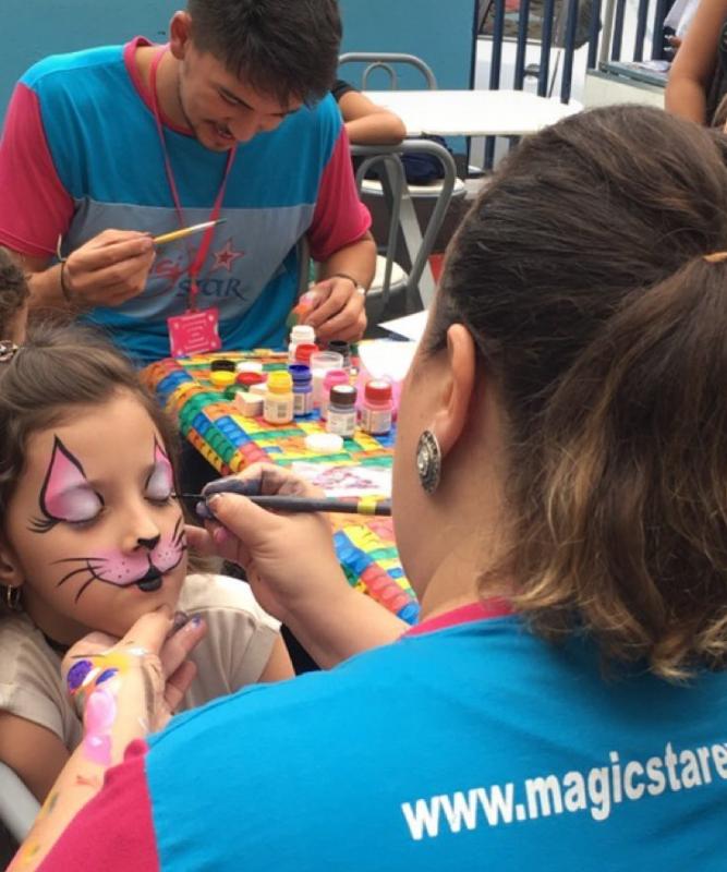
[[[529,137],[447,258],[507,413],[516,606],[670,679],[727,666],[725,138],[609,107]],[[492,581],[497,573],[488,573]]]

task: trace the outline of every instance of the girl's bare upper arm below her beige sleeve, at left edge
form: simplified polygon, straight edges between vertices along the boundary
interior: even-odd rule
[[[68,748],[54,732],[0,712],[0,761],[13,770],[38,802],[46,799],[68,760]]]

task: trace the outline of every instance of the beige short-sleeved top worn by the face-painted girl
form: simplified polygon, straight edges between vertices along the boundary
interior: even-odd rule
[[[246,582],[187,576],[179,608],[207,622],[207,634],[190,656],[197,674],[180,711],[259,679],[280,625],[257,605]],[[60,656],[26,615],[0,615],[0,710],[46,727],[73,751],[83,731],[60,666]]]

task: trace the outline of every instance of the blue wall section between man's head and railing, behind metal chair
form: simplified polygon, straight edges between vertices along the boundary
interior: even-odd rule
[[[440,88],[472,87],[476,0],[339,0],[339,5],[343,52],[414,55],[434,70]],[[410,70],[397,87],[421,87],[420,81]],[[369,86],[379,89],[376,82]]]

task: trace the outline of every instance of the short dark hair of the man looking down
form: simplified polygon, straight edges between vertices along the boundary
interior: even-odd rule
[[[336,0],[187,0],[192,38],[239,78],[281,104],[315,102],[336,77]]]

